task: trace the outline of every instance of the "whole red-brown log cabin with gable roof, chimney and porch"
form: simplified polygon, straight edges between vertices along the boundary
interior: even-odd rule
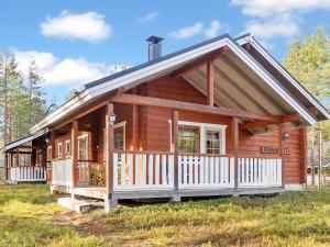
[[[7,144],[8,181],[105,201],[280,193],[306,184],[329,112],[251,34],[224,34],[85,89]]]

